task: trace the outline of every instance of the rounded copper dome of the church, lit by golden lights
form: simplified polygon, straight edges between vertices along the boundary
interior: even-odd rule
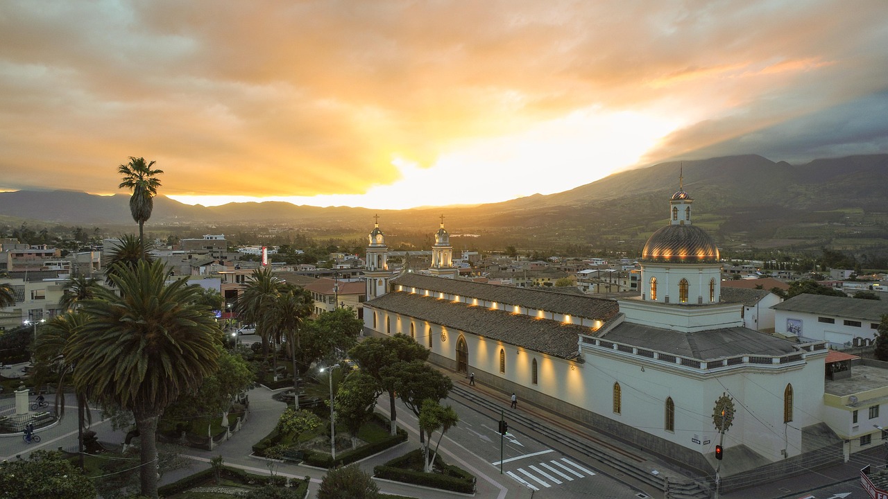
[[[641,250],[641,259],[655,263],[718,263],[718,247],[698,226],[670,225],[651,234]]]

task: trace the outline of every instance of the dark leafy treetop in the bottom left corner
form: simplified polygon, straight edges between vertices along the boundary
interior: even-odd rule
[[[36,450],[29,459],[0,463],[4,499],[93,499],[96,487],[60,452]]]

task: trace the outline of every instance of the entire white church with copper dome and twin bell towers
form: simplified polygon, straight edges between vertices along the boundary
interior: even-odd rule
[[[743,327],[693,202],[679,183],[642,251],[639,295],[617,300],[461,280],[443,220],[432,267],[393,275],[377,220],[366,329],[413,337],[442,368],[705,474],[717,445],[731,456],[723,476],[777,475],[841,449],[821,417],[826,343]]]

